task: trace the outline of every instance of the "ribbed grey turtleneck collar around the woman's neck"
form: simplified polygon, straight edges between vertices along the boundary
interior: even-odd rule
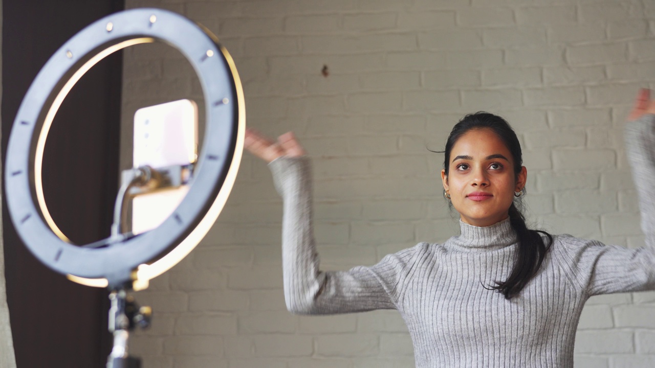
[[[510,218],[486,227],[468,225],[459,221],[461,234],[453,236],[447,243],[461,251],[491,251],[506,248],[517,242]]]

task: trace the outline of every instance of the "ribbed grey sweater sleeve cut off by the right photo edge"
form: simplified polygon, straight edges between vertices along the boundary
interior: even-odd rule
[[[646,246],[627,249],[570,236],[555,240],[567,271],[589,295],[655,289],[655,115],[628,122],[625,138]]]

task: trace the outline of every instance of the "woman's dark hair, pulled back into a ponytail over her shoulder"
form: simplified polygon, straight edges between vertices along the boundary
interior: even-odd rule
[[[514,174],[521,172],[523,165],[523,156],[521,155],[521,144],[512,130],[512,126],[501,117],[484,111],[469,114],[463,117],[451,130],[443,159],[443,170],[446,177],[449,171],[450,153],[453,145],[457,140],[469,130],[489,129],[500,138],[506,147],[510,150],[514,159]],[[518,206],[518,207],[517,207]],[[495,286],[489,286],[488,289],[496,290],[505,295],[505,299],[515,297],[523,287],[534,277],[541,267],[546,257],[546,253],[553,244],[553,237],[548,232],[542,230],[531,230],[525,225],[525,217],[521,213],[521,200],[515,198],[514,203],[510,206],[510,224],[516,232],[519,248],[514,259],[514,268],[512,273],[505,281],[495,281]],[[544,243],[541,234],[548,238],[548,244]]]

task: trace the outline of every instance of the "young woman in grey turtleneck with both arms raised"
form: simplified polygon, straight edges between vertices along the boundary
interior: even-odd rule
[[[417,367],[572,367],[584,303],[592,295],[655,289],[655,101],[642,90],[626,128],[648,247],[626,249],[529,230],[514,202],[526,169],[510,126],[467,115],[445,147],[444,196],[459,236],[420,243],[372,267],[324,272],[312,233],[309,158],[293,134],[249,131],[246,147],[270,162],[284,199],[284,293],[291,312],[397,309]]]

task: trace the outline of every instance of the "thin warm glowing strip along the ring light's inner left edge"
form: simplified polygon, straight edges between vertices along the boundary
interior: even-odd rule
[[[50,106],[50,109],[48,110],[48,113],[45,116],[45,120],[43,120],[43,127],[41,128],[41,133],[39,134],[39,138],[37,140],[37,147],[36,147],[36,151],[35,151],[36,153],[34,158],[34,186],[37,194],[37,202],[39,203],[39,208],[41,209],[41,213],[43,213],[43,218],[45,219],[46,223],[48,223],[48,226],[50,227],[52,232],[54,232],[54,234],[56,234],[61,240],[64,240],[64,242],[69,243],[71,241],[69,240],[69,238],[67,238],[64,235],[62,230],[60,230],[57,227],[56,223],[54,223],[54,220],[52,219],[52,216],[50,216],[50,212],[48,212],[48,206],[45,202],[45,197],[43,196],[43,182],[41,177],[42,170],[43,170],[43,150],[45,149],[45,141],[48,138],[48,132],[50,131],[50,126],[52,126],[52,120],[54,119],[54,116],[56,115],[59,107],[62,105],[62,102],[64,102],[64,99],[66,98],[68,92],[71,91],[73,86],[75,86],[75,83],[77,83],[77,81],[79,81],[79,79],[84,75],[84,73],[86,73],[89,69],[91,69],[93,65],[96,65],[98,62],[100,62],[100,60],[109,56],[109,54],[121,50],[122,48],[126,48],[132,45],[138,45],[140,43],[153,43],[153,42],[155,42],[155,39],[151,37],[140,37],[138,39],[130,39],[118,43],[116,45],[109,46],[104,50],[102,50],[101,52],[99,52],[98,54],[96,54],[96,56],[90,58],[90,60],[84,63],[84,65],[82,65],[79,69],[77,69],[77,71],[75,71],[75,73],[71,76],[71,78],[64,84],[62,90],[59,91],[59,94],[57,94],[54,101],[52,101],[52,105]],[[66,54],[69,58],[72,56],[70,51],[67,51]],[[72,276],[72,277],[76,277],[76,276]],[[104,280],[104,279],[98,279],[98,280]]]

